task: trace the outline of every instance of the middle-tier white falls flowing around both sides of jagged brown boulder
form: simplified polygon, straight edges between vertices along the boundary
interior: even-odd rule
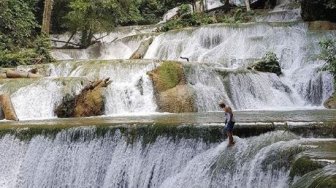
[[[151,60],[48,64],[44,69],[50,78],[15,87],[15,82],[5,82],[0,84],[0,93],[8,92],[10,87],[17,88],[9,93],[20,120],[55,118],[54,109],[66,94],[78,94],[88,81],[110,78],[112,83],[103,94],[105,115],[155,113],[152,81],[147,75],[155,66],[156,62]]]

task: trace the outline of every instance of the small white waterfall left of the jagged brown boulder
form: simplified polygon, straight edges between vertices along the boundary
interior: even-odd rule
[[[85,79],[47,78],[31,80],[13,86],[11,82],[0,87],[0,93],[10,93],[20,120],[55,118],[54,108],[67,93],[78,93]],[[17,82],[15,82],[17,84]],[[11,89],[8,89],[11,88]]]

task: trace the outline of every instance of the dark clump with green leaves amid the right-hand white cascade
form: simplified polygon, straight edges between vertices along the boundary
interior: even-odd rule
[[[279,60],[272,52],[268,52],[261,60],[248,66],[247,69],[260,72],[271,72],[278,76],[282,74]]]

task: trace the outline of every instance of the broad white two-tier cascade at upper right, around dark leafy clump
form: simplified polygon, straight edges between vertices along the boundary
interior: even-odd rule
[[[321,106],[333,91],[332,78],[321,72],[323,62],[314,61],[318,54],[318,42],[335,37],[335,32],[309,31],[304,23],[254,23],[241,26],[213,25],[197,29],[172,31],[156,37],[147,51],[147,59],[179,60],[188,57],[191,61],[210,64],[211,67],[232,70],[225,85],[207,92],[208,97],[198,103],[217,103],[224,95],[236,109],[284,109]],[[248,73],[241,69],[273,51],[279,57],[283,71],[280,77],[270,73]],[[200,75],[202,72],[199,71]],[[207,74],[204,73],[204,74]],[[190,75],[189,75],[190,76]],[[195,76],[192,80],[194,79]],[[202,77],[202,76],[200,76]],[[209,79],[211,76],[207,76]],[[217,76],[218,77],[218,76]],[[193,81],[196,93],[202,93]],[[209,85],[211,86],[211,85]],[[323,86],[323,87],[322,87]],[[214,88],[214,87],[213,87]],[[217,91],[216,91],[217,90]],[[275,96],[278,98],[274,100]],[[204,105],[203,105],[204,106]],[[210,105],[205,111],[216,110]]]

